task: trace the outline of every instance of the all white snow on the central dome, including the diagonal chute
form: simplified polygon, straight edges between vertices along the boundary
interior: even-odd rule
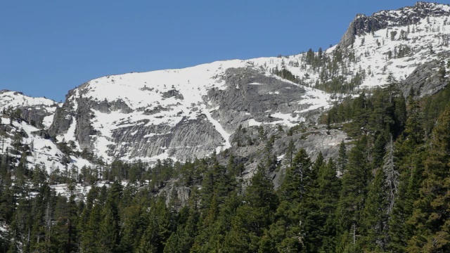
[[[91,80],[76,89],[75,93],[68,99],[76,102],[78,96],[84,96],[98,102],[104,100],[109,102],[122,101],[131,109],[127,110],[127,112],[123,110],[100,112],[91,109],[91,112],[94,114],[93,119],[91,119],[91,126],[96,131],[96,135],[91,136],[94,141],[94,152],[106,160],[120,157],[123,160],[141,159],[155,161],[169,157],[167,152],[160,153],[154,157],[131,157],[128,147],[124,146],[127,143],[115,143],[113,141],[115,139],[113,138],[113,132],[117,132],[117,130],[125,127],[133,127],[129,131],[134,132],[127,132],[128,130],[124,129],[121,134],[134,136],[137,133],[134,126],[139,124],[142,124],[142,126],[162,125],[174,127],[182,120],[198,119],[203,113],[225,140],[222,145],[216,148],[217,152],[219,152],[231,147],[229,142],[231,134],[224,130],[221,122],[218,122],[211,116],[212,110],[207,109],[206,98],[210,89],[221,91],[227,89],[222,77],[226,70],[231,67],[251,67],[261,71],[261,68],[256,66],[252,60],[226,60],[179,70],[113,75]],[[281,77],[274,76],[269,72],[264,72],[264,74],[281,79]],[[283,82],[289,81],[283,79]],[[252,83],[251,85],[267,84]],[[298,86],[299,84],[294,85]],[[305,89],[307,93],[304,96],[307,96],[307,101],[299,102],[304,104],[304,107],[309,108],[305,109],[305,111],[329,106],[329,95],[327,93],[306,87]],[[77,103],[75,103],[76,106],[78,106]],[[298,119],[295,122],[294,118],[283,116],[283,120],[278,122],[278,124],[293,126],[301,120]],[[72,132],[72,130],[69,132]],[[150,135],[150,133],[145,134],[147,138]],[[186,146],[184,148],[195,147]]]

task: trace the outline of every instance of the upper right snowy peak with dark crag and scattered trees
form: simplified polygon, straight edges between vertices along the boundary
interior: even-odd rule
[[[321,58],[330,59],[329,65],[307,63],[307,53],[251,61],[264,70],[281,70],[284,66],[310,86],[338,76],[350,82],[356,73],[362,77],[361,89],[383,86],[389,74],[400,82],[424,63],[449,59],[449,16],[450,6],[425,2],[396,11],[380,11],[371,17],[356,15],[341,43],[321,54]],[[343,43],[345,39],[352,44]],[[330,68],[338,51],[342,60],[338,60],[333,72]],[[314,56],[318,57],[319,52],[314,52]]]

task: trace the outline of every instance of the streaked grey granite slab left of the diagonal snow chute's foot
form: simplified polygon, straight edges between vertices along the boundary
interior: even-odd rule
[[[148,121],[144,121],[148,123]],[[204,118],[183,119],[166,124],[127,126],[113,131],[110,154],[116,157],[155,157],[167,154],[177,160],[205,157],[224,142],[214,126]]]

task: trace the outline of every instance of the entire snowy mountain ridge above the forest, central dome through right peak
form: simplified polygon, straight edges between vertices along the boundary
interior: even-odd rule
[[[33,120],[56,140],[105,160],[204,157],[230,148],[239,125],[316,122],[342,96],[393,80],[405,95],[411,87],[418,96],[439,91],[449,15],[450,6],[418,2],[356,15],[326,50],[101,77],[69,91],[63,105],[46,100]],[[0,105],[18,106],[21,95],[8,94]],[[40,99],[20,106],[36,108]]]

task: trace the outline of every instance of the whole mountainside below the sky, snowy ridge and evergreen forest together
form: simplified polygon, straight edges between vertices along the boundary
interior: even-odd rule
[[[294,56],[0,91],[0,251],[449,252],[450,6]]]

